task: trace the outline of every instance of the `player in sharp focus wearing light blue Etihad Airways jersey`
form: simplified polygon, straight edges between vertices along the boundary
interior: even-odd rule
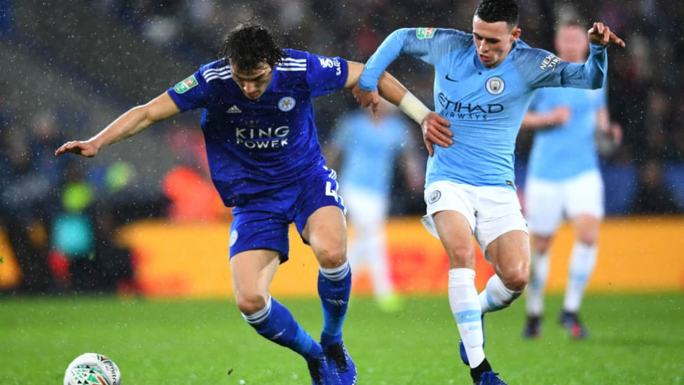
[[[515,140],[533,91],[601,87],[606,46],[624,45],[596,22],[587,32],[587,62],[563,62],[520,41],[518,19],[515,1],[484,0],[474,13],[472,34],[398,29],[367,62],[357,96],[364,106],[374,104],[378,76],[402,53],[435,67],[437,111],[425,112],[406,97],[400,107],[421,122],[428,147],[438,144],[427,161],[423,223],[449,257],[449,304],[460,332],[461,358],[470,365],[475,384],[505,384],[485,358],[481,316],[509,306],[528,283],[529,236],[513,163]],[[479,295],[473,235],[495,270]]]

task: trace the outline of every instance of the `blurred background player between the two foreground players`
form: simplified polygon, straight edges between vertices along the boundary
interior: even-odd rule
[[[357,110],[342,116],[325,148],[328,165],[338,170],[354,237],[347,256],[353,272],[369,268],[373,293],[383,311],[402,308],[395,292],[385,240],[395,166],[409,189],[420,189],[423,170],[403,116],[382,100],[377,116]],[[341,165],[341,167],[337,167]]]

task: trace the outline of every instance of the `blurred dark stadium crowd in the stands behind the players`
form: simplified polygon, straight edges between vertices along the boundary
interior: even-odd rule
[[[214,43],[227,29],[252,15],[282,32],[287,39],[285,46],[364,61],[387,34],[400,27],[470,30],[471,12],[476,3],[84,0],[83,6],[130,25],[140,39],[151,44],[178,55],[193,55],[196,62],[215,58]],[[603,154],[607,213],[683,213],[684,96],[680,90],[684,88],[684,72],[680,63],[684,62],[681,39],[684,24],[680,20],[684,20],[684,8],[676,2],[655,0],[604,1],[598,5],[589,0],[521,0],[519,4],[521,25],[524,25],[521,39],[533,46],[552,50],[552,31],[561,17],[580,20],[587,26],[591,21],[604,20],[624,38],[627,48],[611,51],[608,72],[610,112],[624,128],[624,140],[617,148],[604,145],[600,138],[598,142]],[[11,0],[0,1],[0,36],[11,34],[12,6]],[[430,69],[410,60],[399,61],[394,66],[390,72],[411,73],[411,81],[401,77],[399,80],[430,106]],[[93,228],[93,245],[78,252],[83,261],[91,260],[88,255],[95,252],[97,245],[107,242],[98,238],[102,235],[97,229],[111,231],[112,226],[139,217],[169,215],[168,197],[158,191],[136,189],[125,162],[102,168],[100,165],[74,166],[81,162],[75,158],[55,158],[53,152],[65,137],[60,128],[68,126],[65,122],[78,112],[64,111],[59,104],[43,105],[32,116],[20,118],[3,102],[10,97],[8,90],[0,93],[3,91],[0,130],[5,135],[0,137],[0,222],[15,252],[32,256],[21,262],[26,278],[21,291],[50,292],[60,288],[59,282],[47,278],[60,270],[53,254],[53,259],[48,259],[55,248],[55,219],[60,215],[87,214]],[[351,95],[322,97],[317,103],[322,142],[331,135],[343,114],[357,108]],[[165,130],[156,130],[152,135],[159,135],[160,146],[174,145],[167,139]],[[179,140],[179,136],[175,135],[173,140]],[[522,175],[530,144],[531,136],[522,133],[517,150],[521,189],[524,189]],[[198,168],[197,159],[189,161],[189,158],[192,157],[181,156],[178,160]],[[69,190],[67,187],[74,183],[80,187]],[[130,198],[131,194],[135,198]],[[131,202],[137,204],[131,206]],[[422,191],[409,191],[402,184],[395,184],[392,215],[418,215],[423,211]],[[108,217],[112,222],[96,224],[96,217]],[[64,254],[68,252],[62,250]],[[122,254],[125,252],[114,258],[121,260]],[[52,262],[48,264],[48,261]],[[120,278],[130,278],[130,261],[83,267],[86,271],[95,268],[108,271],[111,279],[102,280],[106,282],[102,285],[83,283],[81,290],[114,290]]]

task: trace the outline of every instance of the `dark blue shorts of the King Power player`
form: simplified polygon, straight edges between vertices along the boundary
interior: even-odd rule
[[[337,206],[346,212],[337,189],[335,171],[320,168],[297,182],[250,197],[244,205],[233,208],[231,257],[247,250],[269,249],[280,253],[280,263],[287,261],[289,224],[294,222],[301,236],[315,210]]]

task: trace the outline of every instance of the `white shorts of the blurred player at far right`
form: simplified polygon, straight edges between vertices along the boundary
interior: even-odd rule
[[[552,236],[567,218],[588,214],[603,219],[603,199],[603,180],[598,170],[559,181],[528,177],[525,216],[533,234]]]

